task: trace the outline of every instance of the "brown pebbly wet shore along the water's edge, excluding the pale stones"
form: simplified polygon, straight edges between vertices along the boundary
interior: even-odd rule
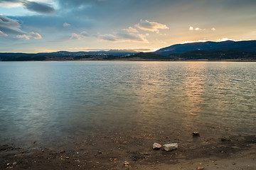
[[[36,141],[29,148],[2,145],[0,169],[256,169],[255,135],[191,135],[189,145],[171,137],[111,139],[90,136],[63,149],[40,147]],[[178,142],[178,149],[155,150],[154,142]],[[125,161],[129,162],[126,166]]]

